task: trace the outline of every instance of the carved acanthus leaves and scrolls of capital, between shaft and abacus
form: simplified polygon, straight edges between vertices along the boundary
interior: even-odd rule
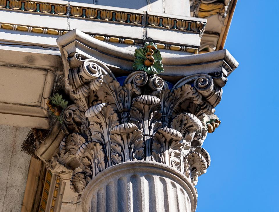
[[[130,161],[162,163],[197,184],[210,165],[201,146],[220,124],[214,107],[227,81],[222,72],[186,76],[169,89],[153,73],[131,72],[121,84],[99,60],[69,60],[67,136],[47,168],[71,174],[77,193],[103,170]]]

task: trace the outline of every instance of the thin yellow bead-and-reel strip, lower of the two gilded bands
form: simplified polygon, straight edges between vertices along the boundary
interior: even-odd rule
[[[50,35],[64,35],[68,32],[68,31],[63,31],[63,30],[59,30],[59,29],[23,26],[23,25],[6,24],[6,23],[0,23],[0,29],[18,30],[18,31],[26,31],[26,32],[50,34]],[[135,41],[132,39],[129,39],[129,38],[108,37],[108,36],[104,36],[104,35],[93,35],[93,34],[89,34],[89,35],[93,38],[96,38],[98,40],[102,40],[105,42],[136,45]],[[158,49],[170,49],[173,51],[187,51],[189,53],[198,54],[198,48],[176,46],[176,45],[169,45],[169,44],[162,44],[162,43],[156,43],[156,45],[157,45]]]

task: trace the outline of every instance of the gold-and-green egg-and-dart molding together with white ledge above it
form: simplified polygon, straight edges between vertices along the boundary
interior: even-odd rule
[[[185,31],[198,33],[200,34],[200,38],[203,35],[206,25],[206,19],[201,18],[152,12],[149,14],[149,12],[141,10],[129,10],[126,8],[113,8],[97,5],[91,6],[89,4],[78,4],[73,2],[70,2],[69,5],[67,5],[39,1],[1,0],[0,10],[14,10],[41,15],[59,15],[66,18],[78,18],[113,22],[117,24],[163,28],[174,31]]]

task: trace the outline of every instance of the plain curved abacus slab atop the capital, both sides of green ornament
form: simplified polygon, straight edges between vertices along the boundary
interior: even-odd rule
[[[71,57],[75,51],[78,51],[85,58],[89,58],[90,55],[98,60],[102,60],[112,70],[118,67],[121,70],[130,72],[130,67],[134,60],[133,51],[93,39],[79,30],[72,30],[66,35],[63,35],[63,38],[60,37],[57,39],[57,43],[60,49],[64,49],[63,52],[67,54],[65,55],[66,58],[68,56]],[[97,49],[98,51],[96,51]],[[64,67],[68,67],[68,61],[64,62]],[[162,77],[168,80],[185,76],[185,70],[191,74],[222,71],[228,76],[238,67],[237,61],[227,50],[199,55],[166,55],[163,57],[162,62],[165,69]],[[65,73],[67,73],[67,68]]]

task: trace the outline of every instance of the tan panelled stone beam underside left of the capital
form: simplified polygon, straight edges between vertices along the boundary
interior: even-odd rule
[[[0,53],[0,124],[49,129],[45,101],[58,87],[60,56],[53,50],[17,45],[1,46]]]

